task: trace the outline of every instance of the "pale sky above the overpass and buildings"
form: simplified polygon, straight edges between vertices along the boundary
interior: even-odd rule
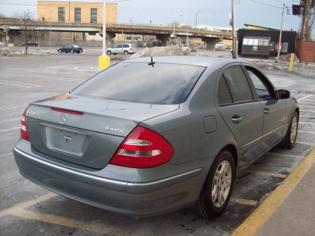
[[[84,1],[84,0],[76,0]],[[85,0],[95,2],[97,0]],[[107,0],[108,2],[111,0]],[[280,8],[259,4],[251,0],[235,0],[236,27],[244,28],[244,24],[265,26],[280,29],[282,2],[280,0],[256,0]],[[289,3],[291,0],[286,0]],[[98,2],[101,2],[99,0]],[[25,6],[0,4],[0,13],[11,16],[15,11],[31,9],[36,16],[36,0],[0,0],[0,3],[30,4]],[[33,4],[34,6],[32,6]],[[287,4],[291,6],[290,4]],[[130,0],[118,2],[119,23],[166,24],[174,21],[185,24],[195,24],[195,14],[198,14],[197,24],[211,26],[229,26],[230,0]],[[284,10],[284,29],[298,30],[301,19],[287,15]],[[183,14],[183,16],[180,16]]]

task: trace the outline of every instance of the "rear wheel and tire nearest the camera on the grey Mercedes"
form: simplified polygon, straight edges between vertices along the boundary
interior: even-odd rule
[[[227,169],[225,169],[225,167]],[[220,174],[221,170],[222,173]],[[234,179],[235,165],[233,156],[231,152],[223,150],[213,162],[197,203],[190,207],[191,211],[204,218],[220,215],[230,200]],[[223,184],[223,186],[221,184]],[[221,187],[223,188],[222,191]],[[218,190],[213,191],[215,188]],[[222,195],[218,195],[219,192],[221,192]],[[222,201],[219,200],[218,196],[222,196],[222,198],[220,198]]]

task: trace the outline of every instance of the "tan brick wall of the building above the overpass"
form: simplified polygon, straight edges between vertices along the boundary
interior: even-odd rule
[[[64,7],[64,22],[69,22],[68,1],[37,1],[37,19],[58,22],[58,7]],[[91,8],[97,8],[97,23],[102,23],[103,3],[70,1],[70,22],[74,22],[74,8],[81,8],[81,23],[91,22]],[[117,23],[117,3],[106,3],[106,22]]]

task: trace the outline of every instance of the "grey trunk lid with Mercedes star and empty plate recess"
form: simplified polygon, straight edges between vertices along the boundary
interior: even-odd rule
[[[178,108],[64,94],[30,104],[26,123],[36,150],[101,169],[141,121]]]

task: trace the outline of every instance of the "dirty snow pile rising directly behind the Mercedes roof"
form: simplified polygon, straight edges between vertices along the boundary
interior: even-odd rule
[[[199,56],[198,53],[190,52],[186,48],[180,47],[153,47],[145,48],[135,54],[127,56],[127,59],[155,57],[155,56]]]

